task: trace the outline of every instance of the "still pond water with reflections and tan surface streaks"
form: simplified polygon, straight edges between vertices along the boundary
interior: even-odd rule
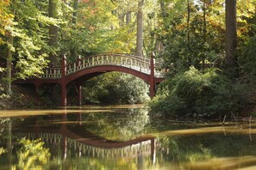
[[[141,106],[0,111],[0,169],[256,169],[256,124],[175,122]]]

